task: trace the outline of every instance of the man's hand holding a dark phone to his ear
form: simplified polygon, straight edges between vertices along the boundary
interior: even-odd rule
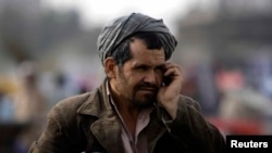
[[[164,68],[163,77],[171,76],[172,79],[169,85],[160,88],[157,100],[174,119],[183,84],[182,67],[174,63],[166,63]]]

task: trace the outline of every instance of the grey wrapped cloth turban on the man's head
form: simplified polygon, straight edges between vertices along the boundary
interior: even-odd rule
[[[170,59],[177,42],[163,21],[140,13],[132,13],[129,16],[113,20],[101,30],[97,47],[102,64],[108,53],[112,54],[120,43],[133,34],[139,31],[158,33],[164,46],[165,55],[168,55],[165,59]]]

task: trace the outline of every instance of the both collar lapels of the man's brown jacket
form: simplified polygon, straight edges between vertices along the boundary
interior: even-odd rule
[[[159,138],[166,132],[161,123],[161,113],[156,105],[150,114],[152,118],[147,127],[148,151],[152,152]],[[90,93],[89,99],[77,110],[79,114],[91,115],[98,119],[90,126],[90,130],[109,153],[123,153],[121,126],[118,115],[113,111],[107,93],[107,79]]]

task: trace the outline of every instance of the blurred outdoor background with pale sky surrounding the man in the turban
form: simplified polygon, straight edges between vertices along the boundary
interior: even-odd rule
[[[26,153],[52,105],[99,86],[99,31],[132,11],[169,25],[182,93],[222,133],[272,135],[271,0],[0,0],[1,153]]]

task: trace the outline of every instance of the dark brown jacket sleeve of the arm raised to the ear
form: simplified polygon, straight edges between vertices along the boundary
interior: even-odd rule
[[[225,153],[224,136],[205,118],[199,103],[191,98],[181,95],[176,118],[164,124],[169,133],[188,148],[207,153]]]

